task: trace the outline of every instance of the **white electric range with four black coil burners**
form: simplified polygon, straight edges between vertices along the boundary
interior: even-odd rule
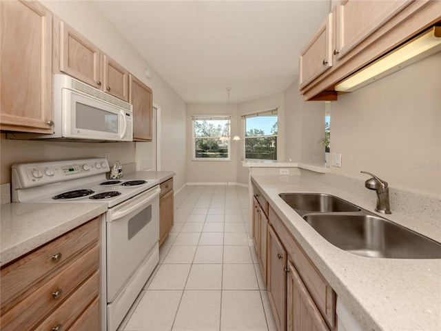
[[[156,180],[106,178],[107,159],[12,165],[12,202],[107,203],[101,226],[103,330],[114,331],[159,261]]]

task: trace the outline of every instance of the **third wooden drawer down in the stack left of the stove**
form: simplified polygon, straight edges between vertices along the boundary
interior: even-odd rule
[[[98,298],[99,272],[95,272],[81,288],[76,290],[67,300],[35,328],[36,331],[48,331],[59,326],[59,331],[68,330],[79,318],[90,303]],[[96,315],[96,319],[100,319]],[[85,329],[92,330],[92,329]]]

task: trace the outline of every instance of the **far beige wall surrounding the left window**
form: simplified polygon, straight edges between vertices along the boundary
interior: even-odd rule
[[[187,103],[187,182],[188,183],[236,183],[237,150],[240,141],[230,139],[229,161],[194,161],[192,141],[193,115],[231,116],[232,137],[238,132],[240,119],[236,103]]]

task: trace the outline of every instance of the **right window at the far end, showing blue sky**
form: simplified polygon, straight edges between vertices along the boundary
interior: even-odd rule
[[[245,159],[277,159],[277,108],[248,114],[245,119]]]

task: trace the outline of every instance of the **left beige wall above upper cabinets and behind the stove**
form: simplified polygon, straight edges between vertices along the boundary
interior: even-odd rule
[[[96,10],[89,1],[41,1],[79,33],[101,48],[112,59],[141,79],[153,90],[153,100],[161,106],[161,165],[162,170],[174,170],[174,185],[186,183],[185,169],[185,103],[154,68],[130,46],[121,34]],[[143,72],[149,68],[152,79]],[[136,143],[136,149],[145,152],[149,143]],[[54,143],[49,141],[8,141],[1,134],[1,183],[10,181],[10,165],[28,161],[104,157],[110,152],[110,161],[136,161],[135,143]]]

